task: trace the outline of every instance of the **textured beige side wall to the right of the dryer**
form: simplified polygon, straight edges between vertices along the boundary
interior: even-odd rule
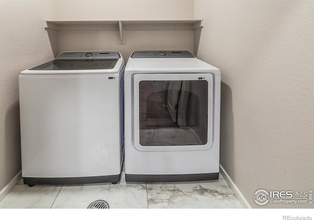
[[[195,0],[194,17],[222,74],[221,165],[253,208],[313,208],[253,195],[313,190],[314,2]]]

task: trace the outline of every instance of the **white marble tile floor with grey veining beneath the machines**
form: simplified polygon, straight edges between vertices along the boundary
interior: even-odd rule
[[[1,209],[86,209],[105,200],[111,209],[242,208],[219,174],[218,181],[184,183],[128,183],[124,173],[117,184],[35,185],[21,179],[0,201]]]

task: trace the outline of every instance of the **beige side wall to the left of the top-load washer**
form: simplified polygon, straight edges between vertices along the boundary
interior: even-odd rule
[[[21,171],[18,76],[53,58],[44,29],[52,0],[0,0],[0,191]]]

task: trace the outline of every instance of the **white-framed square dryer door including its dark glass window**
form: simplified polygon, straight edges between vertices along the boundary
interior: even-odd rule
[[[197,151],[212,145],[210,73],[134,75],[134,145],[139,151]]]

